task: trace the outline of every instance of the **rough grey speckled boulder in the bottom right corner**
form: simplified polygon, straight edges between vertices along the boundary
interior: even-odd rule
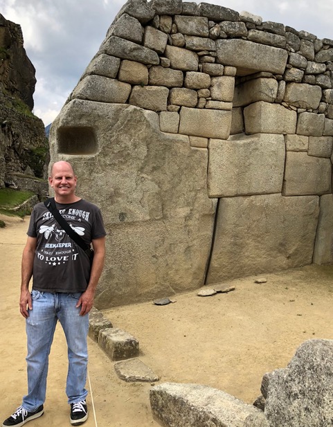
[[[333,419],[333,340],[307,340],[269,379],[264,413],[271,427],[323,427]]]

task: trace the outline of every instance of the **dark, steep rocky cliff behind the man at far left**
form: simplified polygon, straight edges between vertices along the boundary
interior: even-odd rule
[[[24,50],[21,27],[0,15],[0,188],[37,188],[46,194],[48,141],[33,115],[35,68]],[[28,182],[27,182],[28,180]]]

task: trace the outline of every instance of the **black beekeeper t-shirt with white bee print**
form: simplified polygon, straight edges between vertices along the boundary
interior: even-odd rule
[[[84,199],[55,203],[64,219],[84,242],[106,235],[100,209]],[[87,289],[90,260],[86,253],[38,203],[30,217],[28,236],[37,237],[33,262],[33,289],[46,292],[80,292]]]

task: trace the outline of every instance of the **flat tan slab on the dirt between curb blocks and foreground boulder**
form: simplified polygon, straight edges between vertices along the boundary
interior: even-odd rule
[[[159,381],[159,377],[147,367],[138,358],[132,358],[129,361],[115,363],[114,370],[120,379],[127,381],[127,383],[152,383]]]

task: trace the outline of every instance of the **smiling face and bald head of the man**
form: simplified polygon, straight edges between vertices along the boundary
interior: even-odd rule
[[[66,162],[58,162],[53,165],[52,175],[48,179],[56,195],[71,197],[75,192],[76,176],[71,165]]]

